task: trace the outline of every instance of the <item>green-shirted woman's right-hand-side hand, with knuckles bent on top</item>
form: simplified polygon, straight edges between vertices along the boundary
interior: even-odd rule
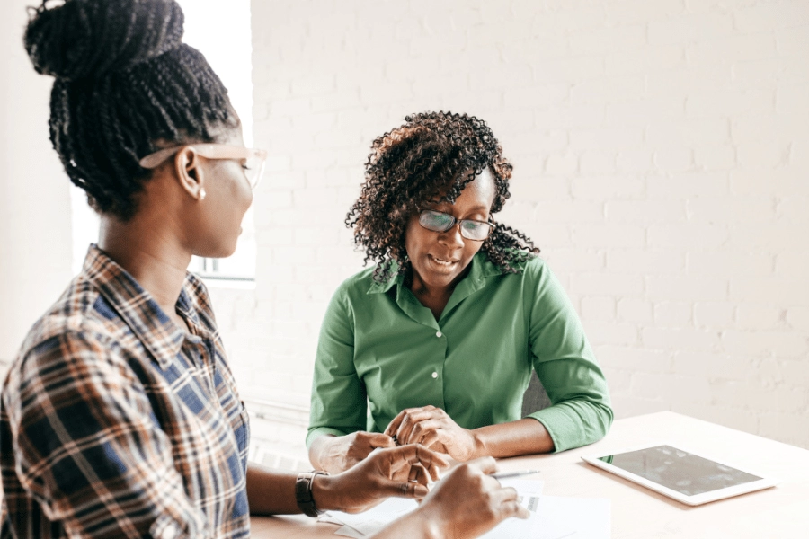
[[[461,462],[481,452],[472,431],[458,427],[446,411],[435,406],[400,411],[385,434],[395,437],[400,444],[421,444]]]

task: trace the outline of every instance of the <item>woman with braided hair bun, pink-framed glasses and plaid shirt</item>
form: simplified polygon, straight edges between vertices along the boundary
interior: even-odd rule
[[[424,501],[378,537],[474,537],[527,517],[486,476],[492,459],[430,495],[448,463],[422,446],[335,475],[248,464],[244,404],[186,268],[235,250],[265,154],[244,147],[227,90],[182,43],[176,2],[49,4],[25,47],[55,77],[50,139],[102,225],[4,382],[0,537],[246,537],[251,513],[355,512],[388,496]]]

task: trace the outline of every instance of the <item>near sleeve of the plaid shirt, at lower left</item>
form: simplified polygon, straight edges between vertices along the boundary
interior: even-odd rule
[[[22,359],[19,391],[3,395],[19,482],[71,536],[205,537],[147,393],[116,350],[75,331]],[[7,492],[6,503],[25,497]]]

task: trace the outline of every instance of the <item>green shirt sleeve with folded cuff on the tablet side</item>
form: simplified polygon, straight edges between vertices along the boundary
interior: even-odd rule
[[[528,264],[526,307],[530,351],[552,406],[529,417],[564,451],[600,440],[613,414],[604,374],[562,285],[545,263]]]

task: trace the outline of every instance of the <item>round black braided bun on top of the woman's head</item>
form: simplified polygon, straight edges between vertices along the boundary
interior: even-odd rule
[[[37,72],[77,79],[121,71],[182,41],[182,8],[174,0],[44,0],[25,31]]]

